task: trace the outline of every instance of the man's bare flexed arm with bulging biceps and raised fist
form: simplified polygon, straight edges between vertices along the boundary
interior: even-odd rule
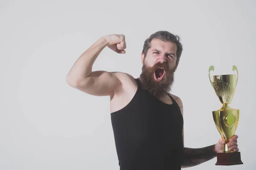
[[[108,35],[101,37],[75,62],[67,75],[67,83],[94,96],[113,96],[122,87],[118,72],[92,71],[93,63],[105,47],[117,53],[125,53],[125,37]]]

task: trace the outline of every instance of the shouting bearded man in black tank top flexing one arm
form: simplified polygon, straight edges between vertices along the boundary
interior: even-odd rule
[[[169,93],[183,46],[180,37],[157,31],[145,40],[140,77],[123,72],[92,71],[108,47],[125,54],[123,34],[105,35],[88,48],[71,68],[67,83],[86,94],[110,96],[111,122],[120,170],[180,170],[221,153],[225,140],[202,148],[184,147],[183,103]],[[228,142],[239,151],[238,136]]]

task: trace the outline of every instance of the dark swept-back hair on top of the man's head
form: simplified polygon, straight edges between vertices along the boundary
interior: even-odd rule
[[[153,39],[159,39],[162,41],[169,41],[169,42],[174,42],[177,45],[177,62],[180,61],[180,56],[183,50],[182,44],[180,43],[180,37],[177,35],[174,35],[168,31],[157,31],[154,34],[151,34],[150,37],[148,37],[143,45],[143,54],[146,56],[148,49],[151,47],[151,41]],[[177,63],[176,62],[176,63]]]

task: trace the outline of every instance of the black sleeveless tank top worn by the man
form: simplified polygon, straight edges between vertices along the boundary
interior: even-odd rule
[[[120,170],[180,170],[183,116],[177,102],[165,104],[138,89],[124,108],[111,113]]]

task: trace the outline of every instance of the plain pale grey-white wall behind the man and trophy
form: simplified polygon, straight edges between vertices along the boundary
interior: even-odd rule
[[[126,54],[104,49],[93,70],[138,77],[144,40],[166,30],[184,51],[172,93],[184,104],[186,147],[220,138],[212,111],[218,101],[208,78],[236,74],[231,107],[243,165],[216,159],[191,170],[253,170],[255,158],[256,2],[253,0],[0,1],[0,169],[118,170],[109,98],[71,88],[66,76],[79,56],[105,34],[125,34]]]

